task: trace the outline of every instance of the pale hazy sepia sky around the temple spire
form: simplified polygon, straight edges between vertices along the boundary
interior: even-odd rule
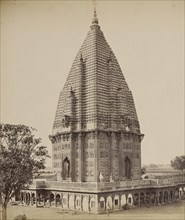
[[[97,1],[132,90],[142,163],[184,154],[184,1]],[[1,1],[1,121],[37,128],[51,152],[59,92],[90,29],[91,1]]]

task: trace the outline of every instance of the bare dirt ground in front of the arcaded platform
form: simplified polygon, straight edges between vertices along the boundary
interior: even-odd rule
[[[174,204],[157,207],[140,207],[130,210],[111,212],[110,214],[87,214],[62,211],[60,208],[35,208],[24,206],[9,206],[8,220],[25,214],[29,220],[59,220],[59,219],[123,219],[123,220],[184,220],[185,200]]]

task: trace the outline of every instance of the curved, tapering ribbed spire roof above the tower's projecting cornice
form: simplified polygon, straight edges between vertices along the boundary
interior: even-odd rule
[[[62,127],[65,115],[73,118],[74,124],[80,120],[96,122],[97,128],[103,129],[118,129],[129,118],[135,131],[140,132],[132,93],[96,22],[91,25],[60,93],[53,131]]]

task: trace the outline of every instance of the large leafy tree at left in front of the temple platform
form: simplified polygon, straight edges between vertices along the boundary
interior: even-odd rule
[[[7,219],[7,204],[21,189],[31,184],[49,157],[36,129],[25,125],[0,124],[0,204],[2,220]]]

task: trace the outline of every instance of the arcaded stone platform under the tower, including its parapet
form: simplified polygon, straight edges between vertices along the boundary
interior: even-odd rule
[[[21,192],[23,204],[104,213],[129,206],[162,205],[185,198],[185,174],[163,179],[121,182],[35,180]]]

